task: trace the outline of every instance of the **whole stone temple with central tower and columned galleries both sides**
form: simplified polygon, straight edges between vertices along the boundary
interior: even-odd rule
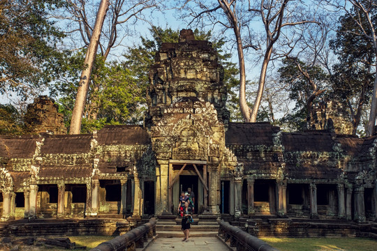
[[[191,30],[162,44],[149,79],[143,126],[66,135],[55,110],[58,125],[41,127],[55,134],[0,137],[1,220],[175,218],[187,188],[199,223],[376,220],[376,136],[231,123],[216,51]]]

